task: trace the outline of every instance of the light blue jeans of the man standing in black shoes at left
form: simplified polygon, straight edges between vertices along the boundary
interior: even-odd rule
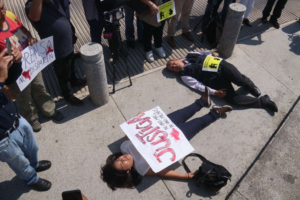
[[[38,182],[35,169],[38,167],[38,142],[30,124],[21,117],[19,127],[0,141],[0,161],[5,162],[31,185]]]

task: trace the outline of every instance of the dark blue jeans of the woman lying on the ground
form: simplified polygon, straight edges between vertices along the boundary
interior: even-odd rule
[[[201,108],[203,108],[205,101],[200,98],[192,103],[191,105],[176,110],[170,113],[168,118],[176,124],[176,126],[183,132],[184,136],[190,140],[194,135],[199,133],[200,130],[207,127],[212,122],[216,121],[220,118],[219,114],[215,110],[211,110],[208,114],[192,119],[191,121],[186,122],[189,118],[191,118],[196,112],[198,112]]]

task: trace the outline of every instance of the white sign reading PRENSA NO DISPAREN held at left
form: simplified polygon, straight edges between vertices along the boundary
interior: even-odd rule
[[[35,78],[48,64],[55,61],[53,36],[27,46],[22,51],[22,74],[16,80],[20,91]]]

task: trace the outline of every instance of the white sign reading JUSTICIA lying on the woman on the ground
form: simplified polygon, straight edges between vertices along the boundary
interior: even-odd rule
[[[120,125],[154,172],[180,160],[194,148],[159,106]]]

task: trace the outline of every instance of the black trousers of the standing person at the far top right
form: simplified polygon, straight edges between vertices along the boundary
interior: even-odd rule
[[[268,17],[271,13],[272,7],[276,0],[268,0],[267,4],[265,5],[265,9],[262,10],[262,16]],[[281,16],[281,12],[286,4],[287,0],[278,0],[273,13],[270,17],[270,20],[277,20]]]

